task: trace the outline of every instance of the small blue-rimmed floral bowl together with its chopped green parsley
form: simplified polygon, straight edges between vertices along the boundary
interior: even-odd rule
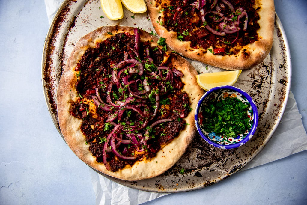
[[[233,149],[253,137],[258,126],[258,110],[251,96],[242,89],[218,86],[200,98],[195,123],[200,136],[210,145]]]

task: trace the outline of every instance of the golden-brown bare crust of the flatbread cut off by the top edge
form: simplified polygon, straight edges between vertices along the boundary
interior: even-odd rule
[[[260,20],[258,20],[260,29],[257,31],[259,40],[252,44],[242,46],[237,55],[225,56],[214,55],[206,51],[204,53],[202,48],[191,48],[189,41],[180,41],[177,39],[176,32],[169,32],[164,26],[158,23],[158,17],[162,15],[159,14],[161,6],[156,6],[154,0],[146,0],[146,4],[150,20],[157,34],[166,39],[165,42],[169,47],[187,58],[227,70],[241,70],[261,63],[272,48],[275,20],[274,0],[256,0],[255,2],[254,7],[257,8],[259,6],[261,8],[258,11],[260,16]],[[211,47],[211,49],[213,48]],[[244,55],[244,52],[247,52],[249,55]]]

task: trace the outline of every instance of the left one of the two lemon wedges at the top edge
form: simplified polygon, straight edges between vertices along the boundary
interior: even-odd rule
[[[101,8],[110,20],[118,20],[124,17],[120,0],[100,0]]]

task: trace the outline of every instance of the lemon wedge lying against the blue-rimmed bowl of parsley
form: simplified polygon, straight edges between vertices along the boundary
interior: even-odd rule
[[[242,70],[203,73],[196,75],[198,85],[208,91],[213,87],[233,85],[237,81]]]

